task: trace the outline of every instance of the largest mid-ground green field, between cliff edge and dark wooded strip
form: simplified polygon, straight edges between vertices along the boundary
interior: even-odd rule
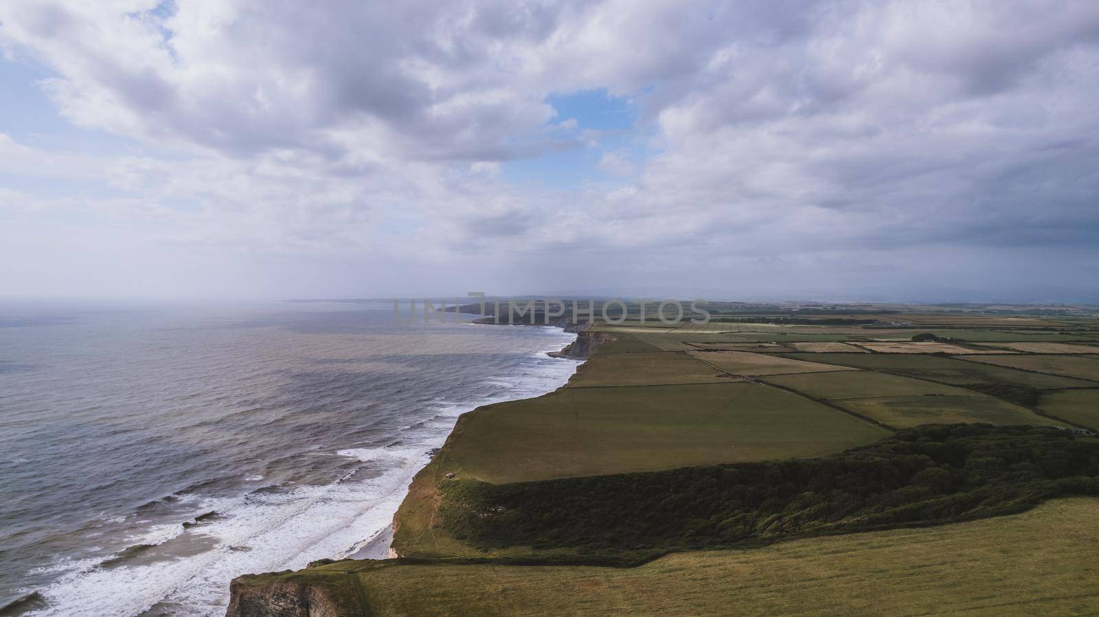
[[[566,388],[464,416],[449,460],[500,483],[812,457],[886,435],[755,383]]]

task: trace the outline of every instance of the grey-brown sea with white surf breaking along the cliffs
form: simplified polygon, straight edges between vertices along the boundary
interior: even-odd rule
[[[240,574],[384,557],[459,414],[576,369],[560,328],[447,317],[0,305],[0,606],[222,615]]]

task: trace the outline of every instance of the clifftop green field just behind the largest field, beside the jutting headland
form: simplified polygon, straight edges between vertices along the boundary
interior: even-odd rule
[[[1099,362],[1096,362],[1099,364]],[[596,354],[580,366],[569,386],[667,385],[729,382],[732,378],[686,352]]]

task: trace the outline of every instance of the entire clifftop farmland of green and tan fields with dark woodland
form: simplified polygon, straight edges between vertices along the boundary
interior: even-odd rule
[[[736,310],[707,325],[596,323],[580,335],[595,354],[566,386],[459,418],[396,518],[393,548],[415,562],[296,575],[323,586],[352,574],[331,580],[354,581],[355,602],[379,615],[1097,606],[1094,559],[1063,552],[1099,542],[1094,316],[881,310],[821,325]],[[864,323],[835,325],[845,319]],[[907,458],[918,444],[930,449]],[[973,460],[991,471],[967,475],[965,457],[912,471],[958,448],[990,452]],[[1072,479],[1033,471],[1081,448],[1096,455],[1056,468]],[[1032,471],[1012,475],[997,457]],[[835,465],[900,476],[880,496],[791,487],[820,482],[817,469],[843,478]],[[739,492],[745,482],[758,493]],[[750,494],[773,497],[751,506]],[[992,565],[1015,553],[1045,574]],[[842,580],[822,574],[836,569]]]

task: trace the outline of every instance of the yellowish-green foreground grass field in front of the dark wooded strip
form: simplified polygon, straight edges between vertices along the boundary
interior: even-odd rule
[[[314,576],[355,576],[379,616],[1091,614],[1097,517],[1099,498],[1073,497],[999,518],[684,552],[637,568],[342,561]]]

